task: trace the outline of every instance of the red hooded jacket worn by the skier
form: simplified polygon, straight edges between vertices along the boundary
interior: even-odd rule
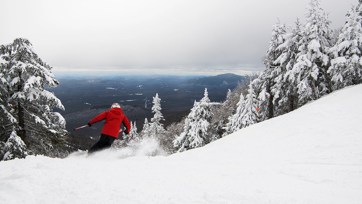
[[[125,132],[130,132],[131,130],[131,123],[128,121],[127,117],[123,115],[123,111],[120,108],[116,107],[109,111],[105,111],[97,115],[97,117],[93,118],[89,123],[90,125],[92,125],[104,119],[106,120],[106,122],[104,123],[102,134],[118,138],[119,127],[122,123],[127,129],[125,130]]]

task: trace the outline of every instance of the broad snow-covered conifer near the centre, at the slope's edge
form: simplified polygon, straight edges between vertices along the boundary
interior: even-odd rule
[[[173,141],[177,152],[186,151],[196,147],[202,147],[210,142],[207,134],[212,118],[210,99],[205,88],[204,97],[200,102],[194,102],[194,107],[185,119],[184,132]]]

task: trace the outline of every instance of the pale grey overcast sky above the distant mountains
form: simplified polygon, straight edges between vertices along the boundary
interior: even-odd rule
[[[0,44],[28,38],[55,76],[248,74],[277,22],[304,23],[310,0],[0,0]],[[320,0],[330,28],[358,0]],[[102,71],[101,73],[97,71]]]

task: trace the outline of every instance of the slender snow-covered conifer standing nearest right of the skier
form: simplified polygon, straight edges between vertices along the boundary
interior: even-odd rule
[[[163,119],[163,115],[161,113],[161,104],[160,104],[161,99],[158,96],[158,93],[156,93],[156,96],[153,97],[153,106],[152,106],[152,113],[155,113],[153,115],[153,118],[151,118],[151,122],[150,122],[150,127],[148,129],[148,136],[155,138],[155,139],[160,139],[161,138],[161,134],[165,131],[163,124],[161,123],[161,120],[165,120]]]

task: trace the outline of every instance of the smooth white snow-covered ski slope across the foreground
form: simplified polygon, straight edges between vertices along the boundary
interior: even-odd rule
[[[360,204],[361,107],[357,85],[171,156],[3,161],[0,203]]]

